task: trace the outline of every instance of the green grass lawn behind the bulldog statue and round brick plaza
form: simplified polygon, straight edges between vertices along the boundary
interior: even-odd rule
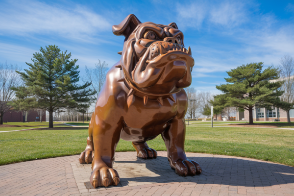
[[[87,128],[29,130],[0,133],[0,165],[74,155],[86,147]],[[147,142],[166,150],[161,136]],[[240,127],[187,127],[187,152],[223,154],[272,161],[294,166],[294,130]],[[121,140],[117,151],[135,151]]]

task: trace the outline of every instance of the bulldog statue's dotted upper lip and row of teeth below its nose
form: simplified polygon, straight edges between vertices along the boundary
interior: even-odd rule
[[[149,55],[146,63],[149,64],[152,60],[160,58],[162,55],[169,53],[183,53],[184,55],[192,56],[191,48],[186,49],[183,45],[170,42],[154,42],[149,46]]]

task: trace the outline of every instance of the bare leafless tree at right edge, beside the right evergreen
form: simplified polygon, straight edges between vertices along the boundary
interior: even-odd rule
[[[287,103],[290,103],[293,107],[294,105],[294,60],[293,57],[289,54],[284,55],[281,58],[280,64],[280,79],[284,81],[284,84],[281,87],[281,90],[284,91],[284,94],[281,96],[281,100]],[[286,110],[287,112],[287,122],[290,121],[290,109]]]

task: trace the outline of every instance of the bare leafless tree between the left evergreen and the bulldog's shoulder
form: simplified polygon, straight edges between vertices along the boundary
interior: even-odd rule
[[[88,69],[86,66],[86,69],[85,69],[86,74],[83,80],[85,80],[84,82],[87,81],[92,84],[91,88],[92,90],[96,92],[97,97],[105,82],[107,70],[108,70],[108,63],[106,63],[105,61],[101,63],[100,60],[98,60],[98,63],[95,64],[94,69],[91,69],[91,68]]]

